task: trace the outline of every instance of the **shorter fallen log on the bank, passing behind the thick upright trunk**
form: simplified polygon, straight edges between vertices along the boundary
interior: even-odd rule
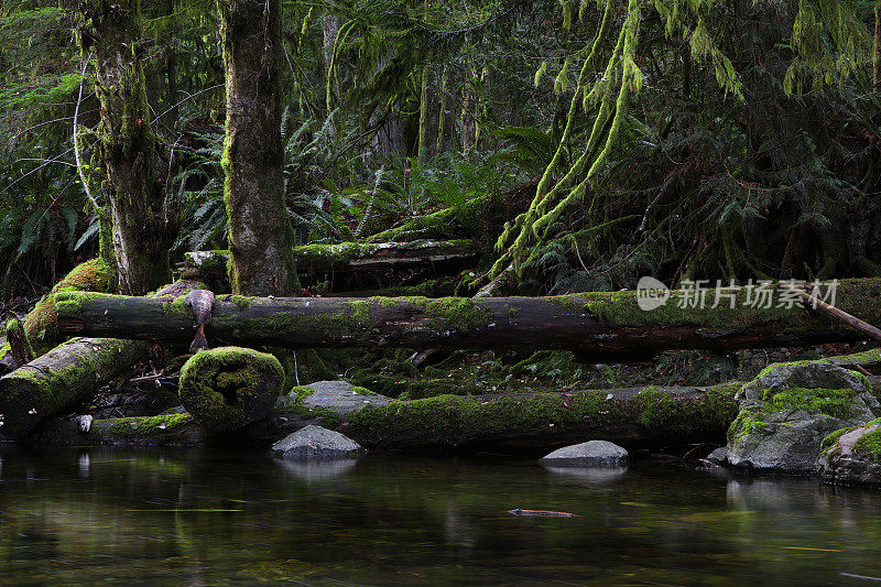
[[[463,263],[477,257],[470,240],[417,240],[413,242],[340,242],[294,247],[297,271],[370,271],[392,268]],[[184,253],[181,270],[185,278],[225,278],[229,251]]]

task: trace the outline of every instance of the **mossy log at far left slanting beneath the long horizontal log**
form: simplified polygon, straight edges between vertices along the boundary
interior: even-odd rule
[[[146,300],[161,302],[164,296],[174,300],[195,286],[195,282],[176,282],[156,292],[157,297]],[[149,349],[150,345],[142,340],[77,338],[3,376],[0,435],[21,438],[88,399],[142,359]]]

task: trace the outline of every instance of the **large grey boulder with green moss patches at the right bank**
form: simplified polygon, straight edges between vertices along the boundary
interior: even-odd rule
[[[814,472],[830,433],[874,417],[878,400],[860,373],[822,362],[772,365],[738,392],[728,430],[735,467]]]

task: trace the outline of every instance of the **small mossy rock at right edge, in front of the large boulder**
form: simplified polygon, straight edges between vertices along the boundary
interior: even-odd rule
[[[817,458],[817,471],[827,483],[881,486],[881,454],[872,450],[881,441],[881,421],[842,431]],[[860,439],[864,441],[860,443]],[[867,446],[869,445],[869,446]],[[871,446],[874,445],[874,446]]]

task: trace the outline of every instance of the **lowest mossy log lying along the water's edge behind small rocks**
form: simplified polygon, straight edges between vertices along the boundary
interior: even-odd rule
[[[572,393],[440,395],[391,401],[351,388],[339,403],[295,388],[265,420],[237,431],[237,446],[269,447],[308,424],[342,432],[362,446],[420,450],[547,452],[601,438],[627,447],[724,442],[740,382],[707,388],[633,388]],[[331,398],[333,400],[333,398]],[[359,409],[352,405],[358,404]],[[361,407],[363,406],[363,407]],[[44,426],[41,444],[189,445],[222,442],[188,414],[97,420],[88,434],[72,420]],[[230,438],[226,438],[230,439]]]

